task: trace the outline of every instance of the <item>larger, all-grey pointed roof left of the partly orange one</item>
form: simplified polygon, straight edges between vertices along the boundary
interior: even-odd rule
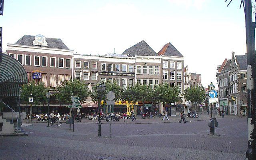
[[[126,54],[129,57],[158,56],[158,54],[144,40],[126,49],[123,54]]]

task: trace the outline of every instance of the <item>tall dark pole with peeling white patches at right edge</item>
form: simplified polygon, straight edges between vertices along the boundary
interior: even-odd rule
[[[246,51],[247,51],[247,109],[248,109],[248,150],[246,151],[246,160],[256,159],[255,148],[255,110],[256,98],[255,89],[255,22],[252,22],[252,1],[244,0],[244,14],[246,26]]]

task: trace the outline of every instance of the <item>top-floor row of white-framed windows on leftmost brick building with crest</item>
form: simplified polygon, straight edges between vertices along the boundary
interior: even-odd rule
[[[16,54],[10,53],[10,56],[16,59]],[[31,66],[32,65],[32,56],[26,54],[24,60],[24,54],[17,54],[17,60],[22,65]],[[58,58],[58,68],[64,68],[65,58]],[[47,56],[34,56],[34,66],[48,66],[48,57]],[[50,67],[56,68],[57,66],[57,57],[50,57]],[[71,68],[71,58],[66,58],[66,68]]]

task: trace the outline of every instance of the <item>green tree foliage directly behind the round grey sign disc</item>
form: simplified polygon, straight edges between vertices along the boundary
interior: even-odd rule
[[[96,86],[99,86],[100,84],[96,84]],[[121,88],[120,86],[117,84],[116,81],[114,81],[113,83],[110,82],[110,81],[106,81],[105,83],[106,85],[106,89],[103,93],[99,93],[97,92],[97,89],[96,89],[96,86],[94,86],[92,88],[92,93],[91,93],[91,97],[92,97],[92,100],[94,102],[98,101],[99,99],[101,100],[104,100],[106,101],[106,94],[109,92],[109,91],[112,91],[116,94],[116,97],[114,100],[116,100],[117,98],[120,98],[120,94],[121,94]]]

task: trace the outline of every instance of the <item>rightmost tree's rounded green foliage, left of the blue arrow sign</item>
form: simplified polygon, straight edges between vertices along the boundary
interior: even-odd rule
[[[187,101],[190,100],[191,102],[202,103],[205,100],[204,89],[198,86],[187,88],[183,95]]]

